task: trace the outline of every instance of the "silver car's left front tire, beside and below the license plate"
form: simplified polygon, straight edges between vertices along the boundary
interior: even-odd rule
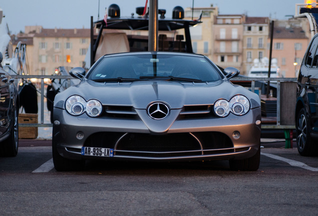
[[[56,171],[79,171],[84,167],[84,160],[72,160],[62,157],[52,144],[53,164]]]

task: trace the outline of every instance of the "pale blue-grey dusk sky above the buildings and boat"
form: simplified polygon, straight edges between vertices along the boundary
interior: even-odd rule
[[[99,19],[105,7],[115,3],[121,16],[135,13],[146,0],[99,0]],[[304,0],[194,0],[194,7],[219,8],[219,14],[247,14],[286,19],[295,14],[295,4]],[[192,0],[158,0],[158,7],[166,9],[166,17],[172,16],[174,6],[192,7]],[[25,25],[41,25],[44,28],[89,28],[90,16],[97,20],[98,0],[1,0],[0,8],[11,33],[24,31]]]

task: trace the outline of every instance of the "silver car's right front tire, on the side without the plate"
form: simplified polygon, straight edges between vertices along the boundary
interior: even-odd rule
[[[259,167],[260,147],[258,147],[255,155],[246,159],[230,159],[229,168],[231,170],[256,171]]]

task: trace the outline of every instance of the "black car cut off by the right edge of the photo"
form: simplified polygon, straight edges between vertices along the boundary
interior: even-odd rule
[[[308,45],[297,79],[295,123],[298,152],[318,154],[318,34]]]

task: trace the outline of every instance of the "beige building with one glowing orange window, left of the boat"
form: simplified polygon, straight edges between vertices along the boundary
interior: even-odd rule
[[[90,29],[26,26],[25,33],[13,37],[13,45],[22,38],[32,38],[32,44],[27,45],[28,73],[50,75],[58,66],[83,65],[90,43]]]

